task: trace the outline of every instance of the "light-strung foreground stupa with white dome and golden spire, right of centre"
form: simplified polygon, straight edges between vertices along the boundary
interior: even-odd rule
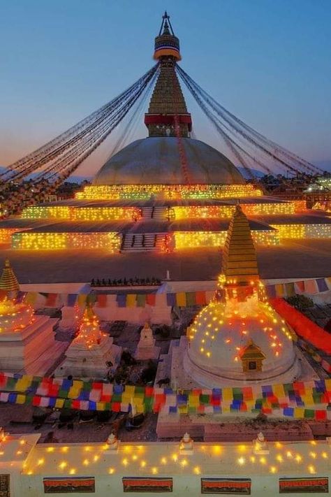
[[[267,300],[240,205],[230,221],[215,296],[187,330],[187,340],[184,370],[204,387],[300,377],[295,333]]]

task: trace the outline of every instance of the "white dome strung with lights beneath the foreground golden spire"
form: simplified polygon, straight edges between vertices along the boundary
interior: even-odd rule
[[[300,373],[292,331],[269,304],[255,296],[233,305],[210,303],[187,334],[184,368],[205,387],[290,382]],[[265,356],[261,371],[243,371],[240,356],[250,340]]]

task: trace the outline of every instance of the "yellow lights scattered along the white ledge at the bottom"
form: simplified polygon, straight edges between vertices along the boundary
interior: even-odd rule
[[[6,442],[6,440],[4,440]],[[23,440],[22,440],[23,441]],[[195,442],[194,452],[191,456],[181,454],[172,444],[165,445],[161,442],[154,442],[146,445],[119,445],[119,453],[112,454],[109,466],[103,468],[104,452],[108,450],[108,445],[94,444],[93,447],[82,444],[69,447],[61,444],[38,446],[38,456],[32,456],[23,463],[23,475],[38,475],[45,473],[45,468],[52,467],[59,475],[82,474],[89,467],[90,470],[101,463],[100,470],[105,470],[108,475],[125,475],[128,470],[133,475],[177,475],[185,472],[187,476],[217,474],[220,464],[228,461],[228,465],[237,465],[256,473],[258,468],[260,475],[274,475],[286,472],[291,475],[293,470],[297,473],[300,468],[300,476],[304,473],[314,475],[320,473],[318,468],[323,465],[323,471],[328,467],[330,454],[325,450],[325,442],[321,442],[321,447],[316,445],[314,440],[294,444],[293,442],[269,442],[269,454],[258,456],[251,453],[251,444],[203,444]],[[8,442],[6,442],[8,443]],[[309,450],[311,445],[311,450]],[[9,447],[8,447],[9,448]],[[66,449],[66,450],[64,450]],[[32,452],[34,454],[34,452]],[[220,459],[221,458],[221,459]],[[54,473],[55,475],[57,473]],[[179,473],[180,474],[180,473]],[[242,470],[240,474],[243,475]],[[193,483],[193,484],[196,484]]]

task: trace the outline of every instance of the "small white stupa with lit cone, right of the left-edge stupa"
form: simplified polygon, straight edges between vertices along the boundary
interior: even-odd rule
[[[110,368],[116,368],[122,347],[100,329],[94,310],[87,305],[78,336],[66,350],[64,362],[55,371],[56,376],[102,378]]]

